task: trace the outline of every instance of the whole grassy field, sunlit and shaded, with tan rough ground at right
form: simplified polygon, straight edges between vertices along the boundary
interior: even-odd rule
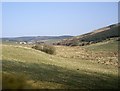
[[[50,55],[3,43],[2,70],[24,75],[33,89],[117,89],[117,44],[111,40],[83,47],[55,46],[56,55]]]

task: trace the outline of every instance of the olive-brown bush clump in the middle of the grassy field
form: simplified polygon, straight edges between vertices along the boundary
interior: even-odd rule
[[[40,45],[40,44],[37,44],[35,46],[33,46],[32,48],[36,49],[36,50],[40,50],[40,51],[43,51],[45,53],[48,53],[48,54],[55,54],[55,47],[52,46],[52,45],[46,45],[46,44],[43,44],[43,45]]]

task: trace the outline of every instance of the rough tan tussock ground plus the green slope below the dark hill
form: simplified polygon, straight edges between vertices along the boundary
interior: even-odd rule
[[[109,41],[84,47],[57,46],[57,56],[63,58],[94,61],[118,67],[118,42]]]

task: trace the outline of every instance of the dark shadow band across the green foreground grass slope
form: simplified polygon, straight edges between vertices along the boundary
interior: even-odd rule
[[[55,82],[68,86],[70,89],[112,89],[118,88],[118,78],[84,70],[68,70],[48,64],[22,63],[3,60],[2,70],[7,72],[24,73],[37,81]],[[3,84],[4,85],[4,84]]]

